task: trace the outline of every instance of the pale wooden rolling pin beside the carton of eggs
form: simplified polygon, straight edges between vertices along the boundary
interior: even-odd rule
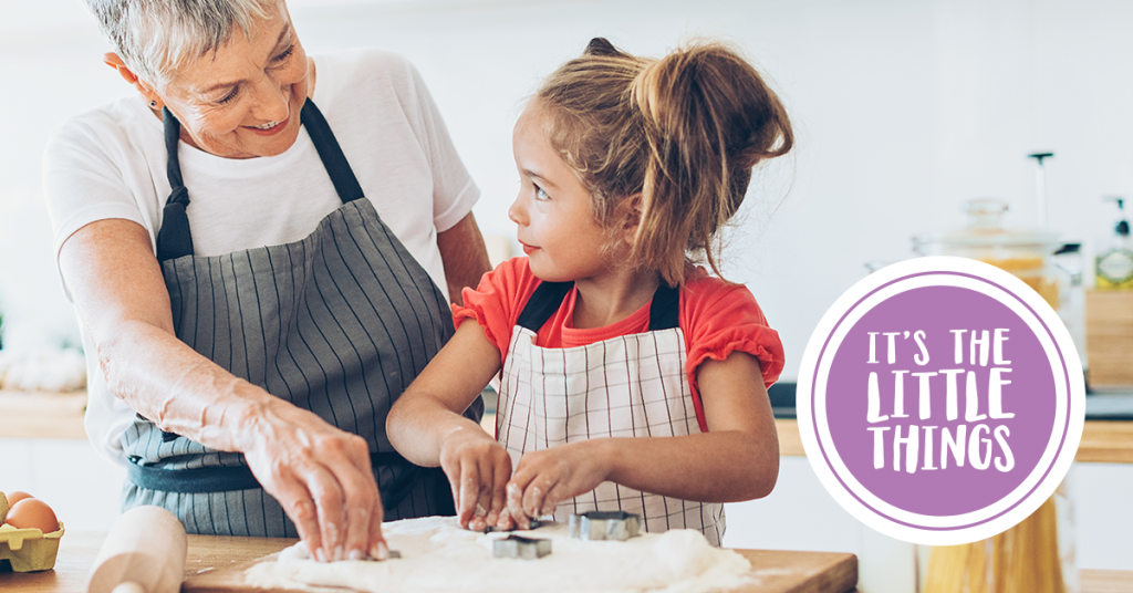
[[[177,593],[185,574],[185,526],[161,507],[123,512],[91,568],[87,593]]]

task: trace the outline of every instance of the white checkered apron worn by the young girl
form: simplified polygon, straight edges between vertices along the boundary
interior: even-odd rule
[[[650,331],[645,333],[574,348],[543,348],[535,339],[546,319],[516,325],[496,407],[496,435],[513,465],[527,451],[587,439],[700,432],[684,373],[684,333],[675,323],[679,298],[675,289],[663,288],[671,291],[668,306],[662,307],[672,308],[670,328],[654,329],[651,314]],[[556,310],[562,296],[553,307],[548,297],[553,303],[555,295],[536,290],[525,314],[533,306]],[[723,505],[649,494],[613,482],[560,502],[554,517],[565,522],[572,514],[589,510],[639,514],[649,532],[699,530],[713,545],[719,545],[724,535]]]

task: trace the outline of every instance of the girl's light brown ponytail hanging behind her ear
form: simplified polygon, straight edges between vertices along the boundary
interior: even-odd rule
[[[786,110],[759,73],[719,43],[650,63],[631,92],[648,146],[633,259],[661,264],[674,283],[685,252],[704,252],[719,274],[713,237],[743,203],[751,168],[791,150]],[[673,237],[688,244],[676,249]]]

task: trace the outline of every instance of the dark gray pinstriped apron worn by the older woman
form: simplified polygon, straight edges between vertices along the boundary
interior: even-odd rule
[[[185,214],[180,124],[164,111],[172,194],[157,259],[177,337],[232,374],[366,439],[386,520],[452,515],[444,473],[410,464],[385,435],[390,406],[453,333],[449,304],[364,198],[310,100],[300,118],[342,205],[303,240],[198,257]],[[466,415],[479,421],[483,409],[477,400]],[[189,533],[298,536],[242,454],[163,432],[140,415],[121,444],[131,461],[123,508],[164,507]]]

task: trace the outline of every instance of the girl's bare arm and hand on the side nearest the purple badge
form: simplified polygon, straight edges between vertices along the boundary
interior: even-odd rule
[[[611,481],[642,492],[700,502],[770,493],[778,437],[759,361],[733,351],[697,368],[708,432],[670,438],[593,439],[523,456],[508,483],[508,510],[523,517]]]

